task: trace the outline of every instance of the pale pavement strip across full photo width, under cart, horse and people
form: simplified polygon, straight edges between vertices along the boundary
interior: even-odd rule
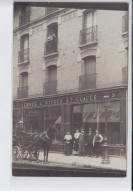
[[[91,158],[88,156],[75,156],[70,155],[66,156],[62,153],[49,153],[48,163],[43,162],[43,152],[39,152],[39,160],[37,161],[28,161],[28,160],[18,160],[13,161],[14,165],[34,165],[36,167],[45,166],[45,167],[63,167],[63,168],[79,168],[79,169],[89,169],[89,168],[100,168],[100,169],[112,169],[112,170],[121,170],[126,171],[126,158],[125,157],[110,157],[109,164],[102,164],[102,157]]]

